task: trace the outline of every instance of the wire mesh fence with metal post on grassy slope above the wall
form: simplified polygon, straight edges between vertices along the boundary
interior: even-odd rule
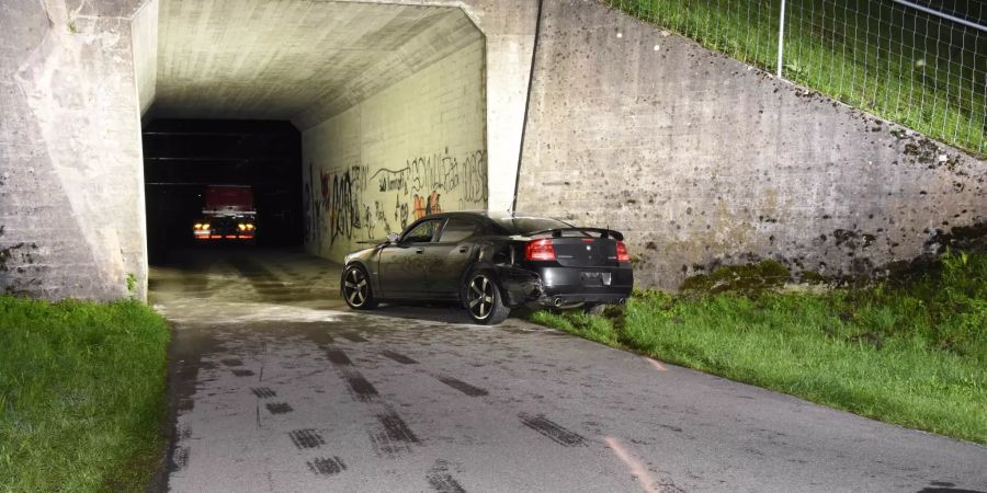
[[[707,48],[987,153],[983,0],[602,0]]]

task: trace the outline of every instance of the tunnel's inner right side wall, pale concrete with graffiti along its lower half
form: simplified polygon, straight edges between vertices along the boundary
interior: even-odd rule
[[[483,39],[302,136],[306,249],[337,261],[439,210],[487,206]]]

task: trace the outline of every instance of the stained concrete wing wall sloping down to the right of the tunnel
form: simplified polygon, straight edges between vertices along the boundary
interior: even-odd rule
[[[983,222],[987,163],[593,0],[545,0],[519,209],[628,233],[640,284],[870,275]]]

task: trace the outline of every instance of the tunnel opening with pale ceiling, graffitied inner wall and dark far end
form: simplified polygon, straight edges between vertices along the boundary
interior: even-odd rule
[[[486,38],[461,8],[148,5],[134,49],[152,290],[321,300],[347,253],[429,213],[487,208]],[[252,191],[256,221],[230,227],[253,239],[197,236],[215,229],[217,185]]]

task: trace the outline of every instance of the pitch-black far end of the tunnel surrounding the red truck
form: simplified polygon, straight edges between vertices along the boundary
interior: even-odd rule
[[[297,248],[303,242],[302,136],[288,122],[159,119],[145,125],[149,261],[188,249]],[[202,241],[207,191],[252,190],[256,237]]]

